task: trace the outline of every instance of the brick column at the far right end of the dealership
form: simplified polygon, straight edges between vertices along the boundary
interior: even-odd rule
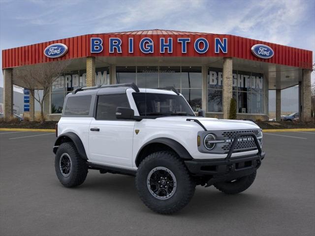
[[[301,87],[301,121],[311,120],[311,70],[303,70]]]

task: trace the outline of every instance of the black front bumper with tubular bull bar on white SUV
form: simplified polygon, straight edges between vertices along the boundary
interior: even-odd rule
[[[258,152],[254,155],[238,156],[232,158],[232,153],[238,138],[250,135],[253,137]],[[195,176],[207,177],[207,186],[216,182],[231,181],[254,173],[261,165],[265,153],[261,151],[256,136],[252,133],[238,134],[235,136],[231,148],[224,159],[186,160],[189,172]]]

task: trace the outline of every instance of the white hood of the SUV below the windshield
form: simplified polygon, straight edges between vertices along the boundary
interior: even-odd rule
[[[204,117],[161,117],[157,119],[170,120],[170,121],[186,121],[186,119],[198,119],[207,130],[238,130],[238,129],[259,129],[259,126],[252,121],[248,120],[234,120],[234,119],[217,119],[217,118],[204,118]],[[186,121],[189,122],[189,121]],[[191,121],[190,121],[191,122]]]

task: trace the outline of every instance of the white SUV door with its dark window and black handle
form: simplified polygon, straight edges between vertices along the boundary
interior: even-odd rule
[[[129,107],[126,93],[99,95],[90,124],[90,161],[132,167],[133,120],[116,119],[117,107]]]

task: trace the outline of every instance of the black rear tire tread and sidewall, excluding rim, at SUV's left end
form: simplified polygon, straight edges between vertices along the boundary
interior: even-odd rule
[[[63,153],[67,153],[71,159],[70,173],[67,177],[64,177],[60,170],[60,158]],[[59,181],[68,188],[82,184],[87,177],[88,167],[72,142],[63,143],[59,146],[55,157],[55,171]]]

